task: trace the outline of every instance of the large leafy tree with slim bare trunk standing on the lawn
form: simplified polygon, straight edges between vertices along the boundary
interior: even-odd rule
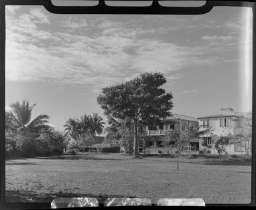
[[[129,117],[134,122],[134,157],[138,158],[138,124],[158,125],[162,119],[172,115],[172,93],[160,86],[166,83],[159,72],[140,76],[105,87],[97,97],[104,114],[113,119]]]

